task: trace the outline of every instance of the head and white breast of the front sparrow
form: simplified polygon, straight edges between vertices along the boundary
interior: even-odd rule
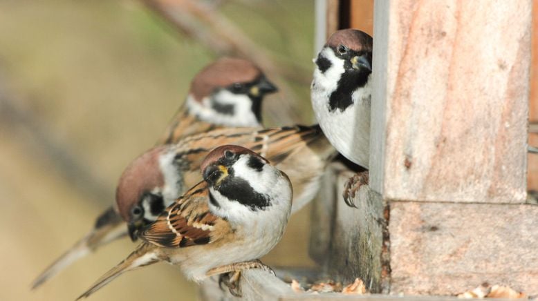
[[[230,222],[272,208],[290,209],[288,177],[252,150],[219,146],[207,155],[201,170],[210,185],[210,208]]]

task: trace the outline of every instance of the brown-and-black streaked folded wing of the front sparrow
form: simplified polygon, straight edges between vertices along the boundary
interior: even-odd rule
[[[208,244],[230,232],[230,224],[210,212],[209,189],[200,182],[178,198],[142,231],[140,238],[156,246],[178,248]]]

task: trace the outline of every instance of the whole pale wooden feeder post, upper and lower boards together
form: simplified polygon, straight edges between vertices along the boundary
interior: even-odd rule
[[[538,206],[523,204],[531,8],[375,1],[370,185],[390,208],[391,293],[538,293]]]

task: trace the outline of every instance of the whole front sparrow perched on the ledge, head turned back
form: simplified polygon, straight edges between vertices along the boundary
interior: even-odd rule
[[[201,164],[203,179],[140,232],[144,242],[80,295],[86,298],[124,272],[164,261],[187,278],[264,267],[258,258],[279,242],[290,216],[285,173],[240,146],[220,146]],[[122,210],[122,208],[120,208]]]

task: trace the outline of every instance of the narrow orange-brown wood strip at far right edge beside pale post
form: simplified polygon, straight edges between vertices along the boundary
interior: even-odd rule
[[[530,66],[529,122],[538,123],[538,0],[532,1],[532,61]],[[538,146],[538,134],[529,135],[529,144]],[[538,191],[538,155],[528,155],[528,190]]]

